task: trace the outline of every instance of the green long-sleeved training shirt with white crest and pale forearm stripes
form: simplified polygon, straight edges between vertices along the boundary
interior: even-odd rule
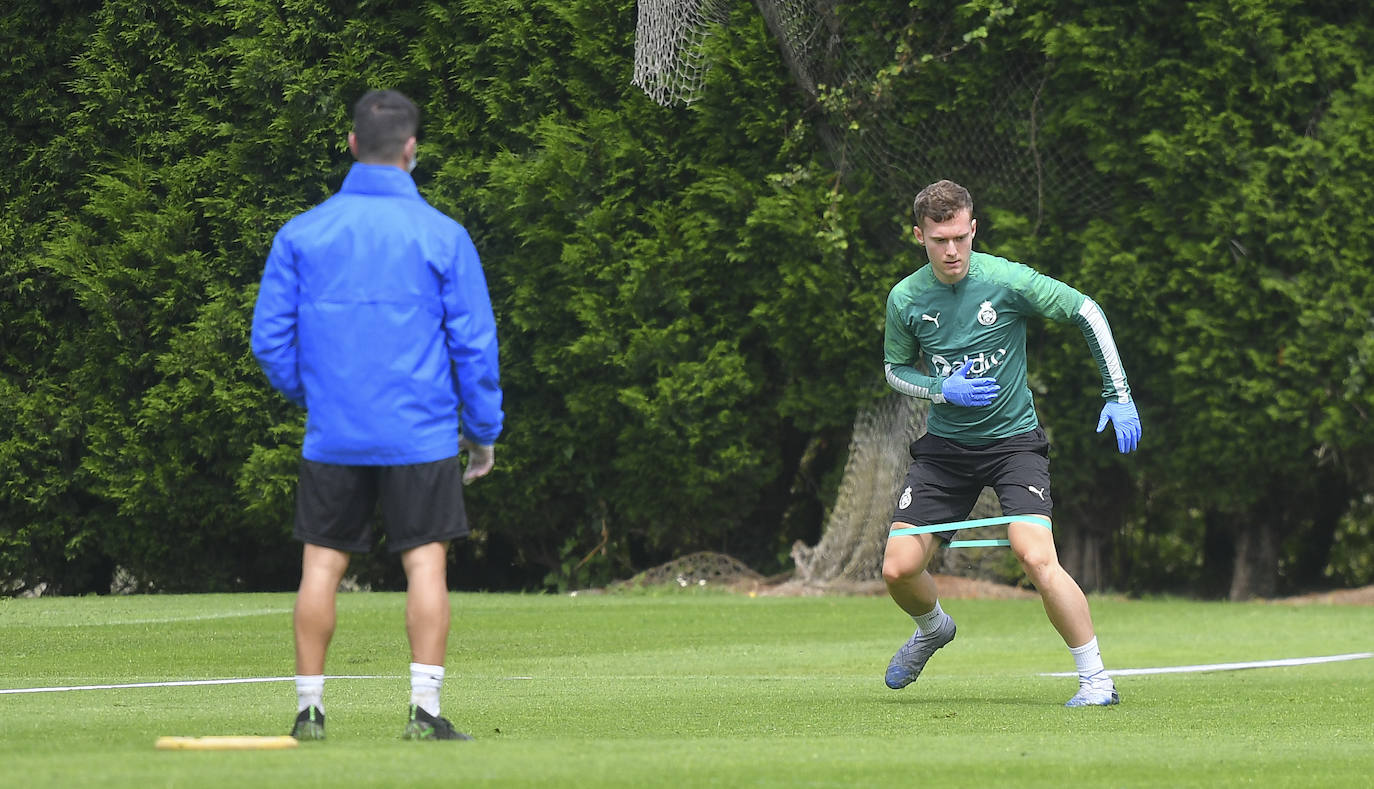
[[[926,264],[888,294],[883,359],[888,384],[930,400],[926,430],[982,444],[1033,430],[1040,422],[1026,385],[1026,319],[1073,322],[1102,371],[1102,397],[1131,401],[1125,368],[1102,309],[1087,296],[1030,267],[992,254],[969,256],[969,274],[954,285]],[[944,379],[973,360],[969,378],[995,378],[988,405],[947,403]]]

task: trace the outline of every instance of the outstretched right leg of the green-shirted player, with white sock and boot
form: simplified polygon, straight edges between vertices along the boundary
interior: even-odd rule
[[[1068,705],[1116,704],[1120,696],[1116,683],[1102,667],[1088,598],[1059,565],[1059,555],[1054,548],[1054,532],[1039,524],[1015,522],[1007,526],[1007,539],[1011,542],[1013,553],[1021,559],[1021,568],[1040,592],[1040,602],[1050,617],[1050,624],[1063,638],[1079,667],[1079,693]]]

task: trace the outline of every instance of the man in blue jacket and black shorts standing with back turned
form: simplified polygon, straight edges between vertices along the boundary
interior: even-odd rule
[[[449,540],[469,533],[462,485],[492,470],[502,432],[496,320],[467,231],[420,197],[419,110],[396,91],[353,107],[357,164],[338,194],[276,234],[253,312],[253,355],[306,410],[295,506],[298,716],[324,738],[324,656],[352,553],[386,546],[405,569],[407,740],[470,740],[440,716]],[[467,469],[459,452],[467,452]]]

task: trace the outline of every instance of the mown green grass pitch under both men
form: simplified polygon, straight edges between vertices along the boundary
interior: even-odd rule
[[[289,676],[293,595],[0,599],[0,689]],[[1096,598],[1112,668],[1374,649],[1374,608]],[[959,638],[903,691],[910,620],[879,598],[455,594],[444,715],[475,742],[400,740],[398,594],[339,597],[328,741],[284,734],[290,682],[0,694],[0,786],[1359,786],[1374,660],[1121,676],[1065,709],[1037,601],[947,601]]]

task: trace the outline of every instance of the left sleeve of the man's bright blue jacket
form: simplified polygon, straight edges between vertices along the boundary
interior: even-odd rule
[[[297,297],[295,260],[278,232],[253,308],[253,356],[268,382],[304,408],[305,386],[297,364]]]

